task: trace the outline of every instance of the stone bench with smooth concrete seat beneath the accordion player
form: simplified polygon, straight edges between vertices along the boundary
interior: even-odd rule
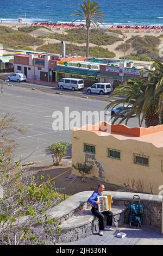
[[[112,206],[113,226],[120,227],[124,223],[124,210],[121,206]],[[84,239],[98,231],[98,218],[92,215],[90,209],[86,209],[82,215],[73,216],[60,224],[61,232],[56,239],[56,244],[62,242],[74,242]]]

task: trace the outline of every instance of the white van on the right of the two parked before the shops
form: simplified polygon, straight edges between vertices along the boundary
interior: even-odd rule
[[[110,83],[94,83],[87,88],[87,93],[98,93],[100,95],[111,93],[112,86]]]

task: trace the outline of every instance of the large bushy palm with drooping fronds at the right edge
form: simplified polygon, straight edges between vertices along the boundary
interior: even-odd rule
[[[131,108],[123,109],[126,114],[121,118],[120,123],[126,120],[127,124],[128,120],[135,114],[139,119],[140,126],[143,120],[145,120],[146,127],[160,124],[163,100],[163,65],[158,60],[153,59],[153,68],[155,70],[145,70],[139,79],[131,78],[129,82],[134,83],[134,85],[119,86],[110,96],[110,98],[117,96],[124,96],[124,98],[110,102],[106,109],[119,104],[132,105]],[[145,77],[146,73],[148,73],[148,77]],[[114,118],[112,122],[114,124],[119,117],[113,115],[112,118]]]

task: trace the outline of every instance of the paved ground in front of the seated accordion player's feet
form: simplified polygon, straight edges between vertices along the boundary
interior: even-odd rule
[[[116,234],[119,232],[124,232],[127,236],[117,238]],[[122,228],[114,228],[114,231],[104,231],[103,236],[96,233],[86,239],[60,245],[163,245],[163,235],[161,230],[156,228],[129,228],[128,225],[124,225]]]

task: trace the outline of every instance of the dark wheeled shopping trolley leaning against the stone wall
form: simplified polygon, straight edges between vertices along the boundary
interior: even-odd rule
[[[144,205],[140,203],[140,197],[137,194],[133,197],[133,202],[129,204],[129,224],[141,226],[143,218]]]

